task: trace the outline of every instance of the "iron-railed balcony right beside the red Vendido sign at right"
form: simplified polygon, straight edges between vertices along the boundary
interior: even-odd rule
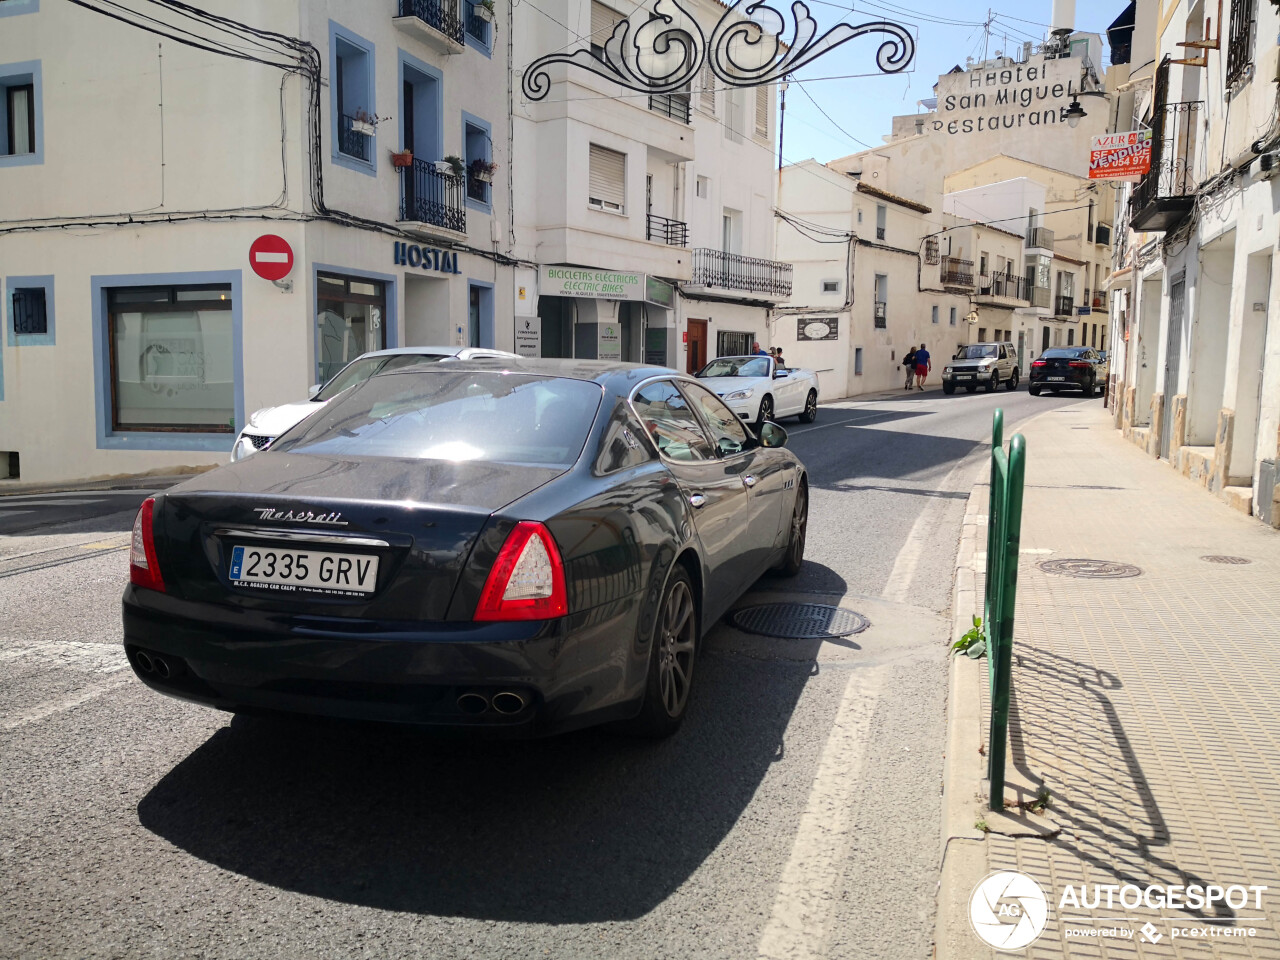
[[[1196,129],[1204,104],[1165,104],[1152,115],[1151,170],[1129,197],[1129,225],[1160,233],[1176,225],[1196,205]]]

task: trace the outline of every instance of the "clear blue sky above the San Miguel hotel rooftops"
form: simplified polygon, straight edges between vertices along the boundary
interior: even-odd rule
[[[1029,4],[1001,0],[1000,9],[988,8],[987,0],[806,3],[819,35],[841,19],[855,26],[868,20],[892,20],[908,27],[916,36],[915,61],[902,73],[878,74],[876,50],[879,41],[876,37],[879,35],[868,35],[850,40],[801,69],[795,77],[800,82],[791,83],[786,93],[782,143],[786,163],[808,157],[826,163],[879,146],[891,129],[893,116],[923,110],[916,101],[933,96],[933,84],[940,74],[956,64],[964,67],[966,56],[982,59],[984,45],[987,55],[995,56],[998,50],[1020,50],[1028,40],[1038,44],[1048,33],[1051,13],[1051,0]],[[787,0],[774,0],[771,5],[786,12],[790,20]],[[1076,0],[1075,28],[1101,33],[1106,42],[1107,26],[1126,5],[1126,0]],[[1100,72],[1106,63],[1098,64]],[[824,79],[845,74],[873,76]]]

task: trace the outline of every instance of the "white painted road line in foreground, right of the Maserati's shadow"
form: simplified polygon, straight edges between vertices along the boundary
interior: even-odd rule
[[[756,954],[767,960],[827,956],[835,890],[852,842],[854,792],[887,668],[855,669],[822,749],[791,856],[782,869]]]

